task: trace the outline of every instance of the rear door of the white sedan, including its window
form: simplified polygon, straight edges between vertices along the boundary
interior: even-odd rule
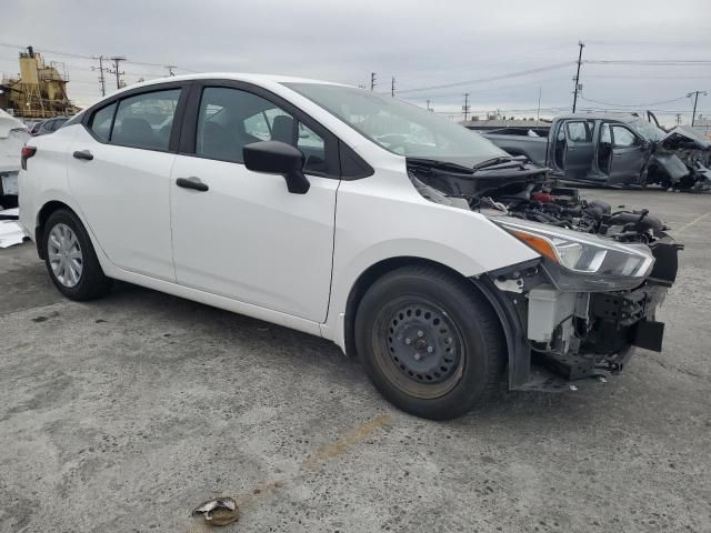
[[[67,157],[69,185],[108,258],[174,281],[170,171],[186,98],[181,84],[131,91],[91,112]]]

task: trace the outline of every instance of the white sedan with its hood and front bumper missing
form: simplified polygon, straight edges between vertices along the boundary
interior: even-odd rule
[[[393,98],[158,80],[33,139],[22,167],[21,223],[68,298],[118,279],[321,335],[420,416],[661,350],[680,248],[661,221],[549,189],[547,169]]]

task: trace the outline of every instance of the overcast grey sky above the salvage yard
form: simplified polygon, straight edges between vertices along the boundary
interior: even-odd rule
[[[400,98],[429,99],[457,119],[464,92],[473,114],[534,117],[539,89],[541,117],[552,117],[570,111],[579,40],[583,60],[709,61],[710,22],[709,0],[9,0],[0,72],[17,73],[17,46],[47,50],[47,60],[66,63],[70,98],[86,105],[100,92],[98,63],[82,56],[157,64],[124,63],[128,83],[164,76],[163,64],[177,73],[269,72],[354,86],[369,86],[374,71],[377,91],[389,92],[394,76]],[[709,90],[699,111],[711,115],[709,63],[585,63],[581,82],[583,109],[651,108],[668,123],[677,112],[688,122],[685,94]]]

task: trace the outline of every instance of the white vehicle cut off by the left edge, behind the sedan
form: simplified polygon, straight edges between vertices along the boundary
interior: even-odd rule
[[[0,207],[18,205],[20,150],[30,138],[27,125],[0,109]]]

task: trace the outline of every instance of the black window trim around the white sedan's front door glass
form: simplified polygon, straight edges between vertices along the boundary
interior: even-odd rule
[[[322,178],[329,178],[334,180],[348,179],[342,177],[342,168],[340,161],[340,144],[341,141],[339,138],[333,134],[328,128],[322,125],[311,115],[303,112],[301,109],[296,107],[293,103],[289,102],[279,94],[273,93],[272,91],[264,89],[263,87],[256,86],[253,83],[249,83],[246,81],[239,80],[224,80],[224,79],[204,79],[204,80],[194,80],[193,88],[190,93],[190,100],[188,101],[184,110],[183,121],[182,121],[182,130],[180,134],[180,143],[178,148],[178,153],[180,155],[187,155],[190,158],[200,158],[208,159],[211,161],[223,161],[231,164],[241,164],[236,161],[229,161],[223,159],[217,159],[213,157],[202,155],[196,153],[196,141],[198,134],[198,118],[200,114],[200,101],[202,99],[202,91],[207,88],[222,88],[222,89],[236,89],[239,91],[249,92],[257,97],[263,98],[276,107],[282,109],[287,113],[291,114],[294,119],[294,129],[297,128],[297,123],[303,123],[306,127],[311,129],[316,134],[323,139],[323,143],[326,147],[326,160],[329,164],[329,168],[337,169],[336,173],[326,173],[326,172],[317,172],[313,170],[304,170],[303,173],[307,175],[318,175]],[[367,164],[365,162],[363,162]],[[351,179],[358,179],[353,177]]]

